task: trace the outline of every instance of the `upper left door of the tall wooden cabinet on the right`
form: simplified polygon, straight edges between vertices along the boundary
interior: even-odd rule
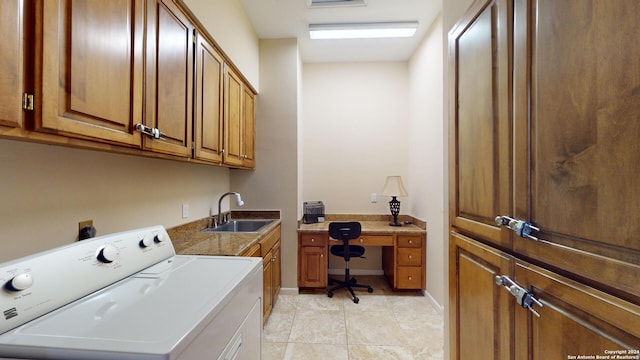
[[[510,209],[510,3],[474,2],[449,34],[450,222],[505,247],[494,219]]]

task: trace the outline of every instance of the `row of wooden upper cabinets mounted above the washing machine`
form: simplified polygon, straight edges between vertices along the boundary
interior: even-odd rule
[[[0,10],[0,136],[255,167],[255,91],[182,1]]]

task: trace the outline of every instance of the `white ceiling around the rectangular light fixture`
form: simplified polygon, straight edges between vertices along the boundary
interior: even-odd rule
[[[406,61],[440,13],[442,0],[365,0],[365,6],[310,8],[310,0],[240,0],[260,39],[297,38],[302,61]],[[418,21],[403,39],[311,40],[309,24]]]

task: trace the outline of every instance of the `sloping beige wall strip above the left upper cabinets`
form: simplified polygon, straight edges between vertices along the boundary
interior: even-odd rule
[[[238,0],[182,0],[240,72],[260,91],[258,36]]]

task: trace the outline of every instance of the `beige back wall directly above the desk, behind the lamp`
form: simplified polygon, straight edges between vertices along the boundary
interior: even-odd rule
[[[390,199],[370,197],[387,175],[407,178],[407,64],[304,64],[303,79],[303,199],[327,213],[386,214]]]

